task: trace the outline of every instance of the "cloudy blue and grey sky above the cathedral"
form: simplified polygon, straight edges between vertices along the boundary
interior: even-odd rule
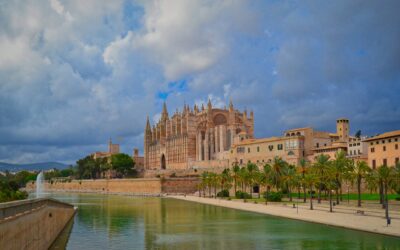
[[[143,148],[146,116],[210,98],[256,137],[400,129],[400,1],[0,0],[0,161]]]

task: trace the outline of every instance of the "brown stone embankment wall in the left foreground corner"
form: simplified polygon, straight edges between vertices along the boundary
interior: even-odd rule
[[[54,199],[0,203],[0,249],[48,249],[74,214]]]

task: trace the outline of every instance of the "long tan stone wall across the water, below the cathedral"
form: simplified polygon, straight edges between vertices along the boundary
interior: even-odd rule
[[[44,183],[47,192],[84,192],[159,196],[161,194],[194,193],[198,178],[137,178],[53,181]],[[35,182],[27,184],[26,190],[35,190]]]

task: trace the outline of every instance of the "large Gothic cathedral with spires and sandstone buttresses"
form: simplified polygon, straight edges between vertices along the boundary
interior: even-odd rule
[[[201,166],[229,166],[229,152],[234,141],[251,139],[254,114],[229,108],[193,110],[184,106],[169,117],[164,103],[160,120],[151,127],[147,117],[144,131],[144,166],[146,170],[187,169]]]

